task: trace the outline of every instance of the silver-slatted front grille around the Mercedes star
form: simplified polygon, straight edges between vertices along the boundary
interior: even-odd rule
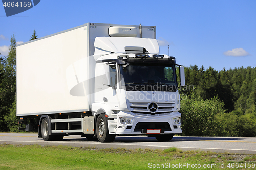
[[[130,103],[131,112],[140,113],[140,114],[162,114],[162,113],[170,113],[174,111],[175,103],[157,103],[158,111],[150,112],[147,109],[148,103]]]

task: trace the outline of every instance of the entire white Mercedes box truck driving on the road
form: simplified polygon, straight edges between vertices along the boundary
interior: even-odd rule
[[[38,129],[45,141],[182,133],[184,67],[159,55],[155,26],[86,23],[16,49],[20,130]]]

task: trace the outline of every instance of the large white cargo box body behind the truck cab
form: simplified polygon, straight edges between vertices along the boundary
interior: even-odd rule
[[[133,34],[140,37],[139,26],[125,27],[133,28]],[[90,111],[90,95],[70,95],[70,88],[94,77],[95,68],[89,64],[88,56],[94,54],[95,38],[109,36],[109,28],[125,27],[87,23],[17,45],[17,116]],[[118,31],[114,30],[115,35]],[[143,26],[142,32],[144,38],[156,38],[155,26]],[[75,68],[74,74],[82,73],[73,77],[73,82],[72,75],[70,79],[66,77],[70,65]],[[84,94],[94,86],[87,83],[83,84]]]

